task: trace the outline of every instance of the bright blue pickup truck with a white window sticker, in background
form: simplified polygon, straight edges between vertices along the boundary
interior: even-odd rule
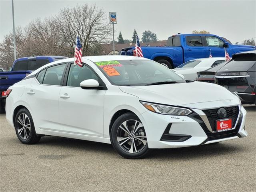
[[[235,53],[255,50],[255,46],[233,45],[225,38],[212,34],[177,34],[167,40],[165,47],[141,47],[144,57],[169,68],[198,58],[225,57],[224,47],[229,56]],[[121,55],[133,55],[134,47],[124,48]]]

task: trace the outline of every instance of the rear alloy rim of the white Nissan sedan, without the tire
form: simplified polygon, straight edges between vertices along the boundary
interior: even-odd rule
[[[24,140],[27,139],[31,130],[30,120],[28,116],[25,113],[20,114],[18,116],[17,122],[17,130],[20,138]]]

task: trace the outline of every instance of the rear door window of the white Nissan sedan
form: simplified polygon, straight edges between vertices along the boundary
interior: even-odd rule
[[[66,64],[60,64],[47,68],[43,84],[60,85]]]

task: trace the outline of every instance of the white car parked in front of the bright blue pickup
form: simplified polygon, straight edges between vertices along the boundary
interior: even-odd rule
[[[177,68],[173,69],[173,71],[177,74],[183,75],[186,80],[194,81],[196,80],[197,72],[207,70],[208,68],[216,66],[224,61],[224,57],[194,59],[181,64]]]

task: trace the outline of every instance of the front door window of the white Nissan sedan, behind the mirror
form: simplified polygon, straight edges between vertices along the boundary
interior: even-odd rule
[[[68,72],[67,86],[70,87],[80,87],[80,82],[87,79],[99,80],[96,74],[86,65],[82,67],[71,64],[70,70]]]

